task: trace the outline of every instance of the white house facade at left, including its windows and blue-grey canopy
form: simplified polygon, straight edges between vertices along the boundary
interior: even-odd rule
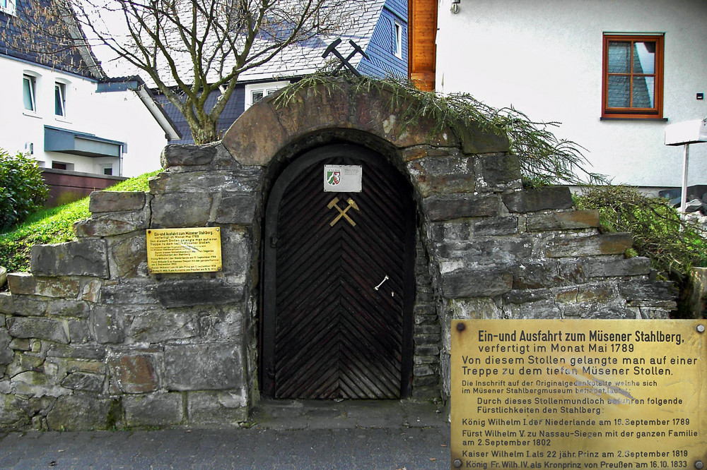
[[[165,129],[130,90],[98,92],[98,80],[0,56],[0,147],[40,167],[136,176],[160,168]]]

